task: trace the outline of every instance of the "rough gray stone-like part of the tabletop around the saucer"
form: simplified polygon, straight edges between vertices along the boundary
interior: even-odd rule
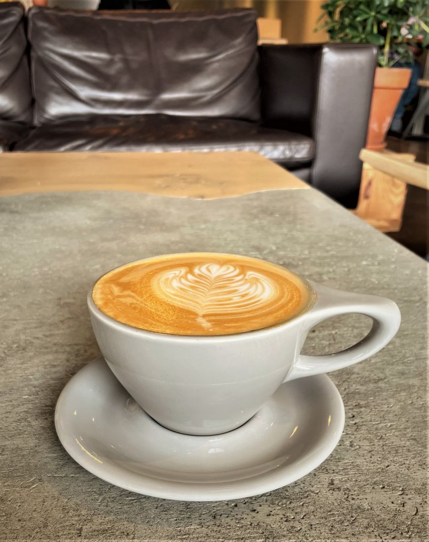
[[[0,211],[1,540],[428,539],[423,260],[314,190],[214,201],[51,193],[4,197]],[[190,250],[263,257],[402,311],[391,344],[331,375],[346,407],[334,453],[269,494],[191,503],[129,493],[82,469],[56,438],[56,398],[99,352],[92,282],[123,262]],[[367,330],[359,316],[324,322],[305,351],[335,351]]]

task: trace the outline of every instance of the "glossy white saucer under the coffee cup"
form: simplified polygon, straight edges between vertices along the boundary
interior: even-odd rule
[[[98,358],[62,391],[55,426],[73,459],[107,482],[164,499],[217,501],[308,474],[340,440],[344,406],[331,380],[317,375],[283,384],[230,433],[181,435],[152,420]]]

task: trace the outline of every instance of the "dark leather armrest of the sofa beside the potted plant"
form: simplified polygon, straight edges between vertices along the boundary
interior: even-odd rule
[[[266,126],[315,142],[310,183],[356,207],[377,48],[367,44],[260,46]]]

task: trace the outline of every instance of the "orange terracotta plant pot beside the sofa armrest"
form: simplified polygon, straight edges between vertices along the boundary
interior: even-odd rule
[[[408,68],[377,68],[375,70],[367,149],[382,151],[386,148],[387,130],[410,78],[411,69]]]

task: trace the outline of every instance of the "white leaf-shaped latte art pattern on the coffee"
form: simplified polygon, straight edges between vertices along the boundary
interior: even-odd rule
[[[275,282],[237,265],[204,263],[161,272],[152,279],[157,295],[198,315],[201,326],[212,327],[205,314],[234,314],[269,304],[277,295]]]

